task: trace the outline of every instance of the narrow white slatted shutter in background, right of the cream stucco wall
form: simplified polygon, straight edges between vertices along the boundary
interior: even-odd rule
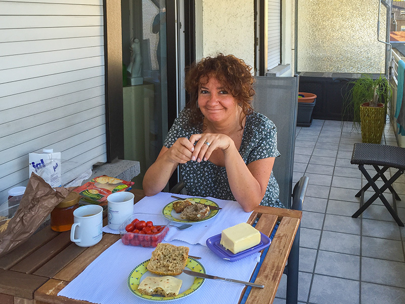
[[[280,64],[281,0],[268,0],[267,69]]]

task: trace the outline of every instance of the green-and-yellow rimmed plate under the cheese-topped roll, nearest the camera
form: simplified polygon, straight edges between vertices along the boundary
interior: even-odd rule
[[[149,260],[144,261],[140,263],[135,269],[131,272],[130,276],[128,277],[128,287],[130,290],[136,295],[139,296],[143,299],[150,300],[150,301],[169,301],[169,300],[176,300],[179,298],[183,298],[187,295],[190,295],[193,293],[195,290],[197,290],[201,285],[203,285],[205,279],[203,278],[196,278],[196,277],[191,277],[189,275],[186,275],[184,273],[176,276],[176,278],[180,279],[183,281],[180,292],[176,296],[168,296],[164,297],[161,295],[147,295],[147,294],[141,294],[138,291],[139,284],[142,282],[142,280],[146,277],[160,277],[159,275],[153,274],[149,272],[146,267],[149,263]],[[187,259],[187,264],[186,268],[192,271],[196,271],[199,273],[206,273],[206,270],[199,261],[189,257]]]

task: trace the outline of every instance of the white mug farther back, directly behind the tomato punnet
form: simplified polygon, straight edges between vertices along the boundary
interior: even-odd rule
[[[109,229],[118,230],[119,226],[132,215],[134,197],[131,192],[116,192],[107,197]]]

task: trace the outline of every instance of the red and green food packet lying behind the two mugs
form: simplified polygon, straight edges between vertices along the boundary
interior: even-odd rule
[[[120,191],[129,191],[133,184],[133,181],[101,175],[75,188],[73,191],[77,192],[82,197],[82,201],[106,206],[107,197],[110,194]]]

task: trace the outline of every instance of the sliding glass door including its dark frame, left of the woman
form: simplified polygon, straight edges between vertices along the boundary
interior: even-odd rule
[[[137,188],[185,104],[184,67],[194,59],[193,40],[185,39],[193,33],[190,11],[184,0],[121,0],[124,157],[140,162]]]

